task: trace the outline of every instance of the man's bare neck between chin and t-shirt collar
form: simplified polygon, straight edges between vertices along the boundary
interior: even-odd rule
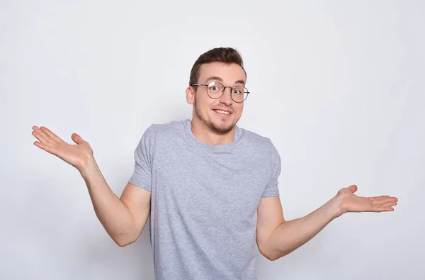
[[[200,121],[197,118],[193,118],[191,121],[192,133],[195,137],[208,145],[225,145],[234,141],[234,129],[229,131],[226,134],[217,134],[214,131],[210,130],[203,121]]]

